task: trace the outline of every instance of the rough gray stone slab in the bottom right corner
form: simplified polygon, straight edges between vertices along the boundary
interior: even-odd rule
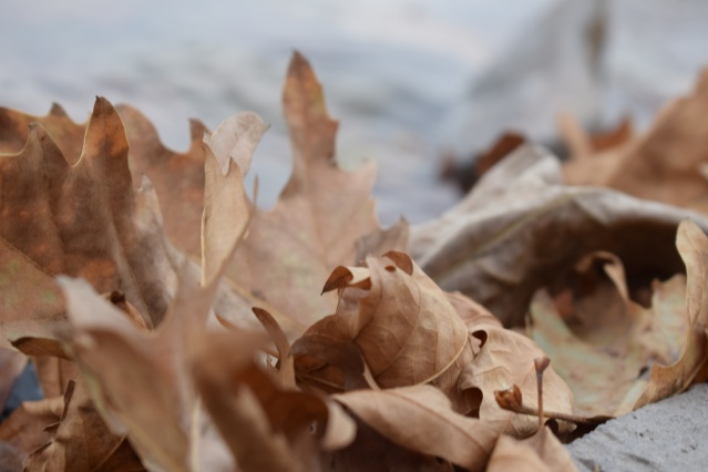
[[[612,420],[568,444],[579,471],[708,469],[708,383]]]

